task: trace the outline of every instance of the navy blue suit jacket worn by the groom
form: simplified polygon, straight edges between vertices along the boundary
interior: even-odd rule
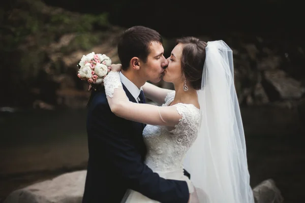
[[[130,101],[135,98],[123,85]],[[104,90],[90,101],[87,114],[89,159],[83,203],[120,202],[133,189],[160,202],[186,203],[185,181],[160,178],[144,164],[144,124],[115,116]]]

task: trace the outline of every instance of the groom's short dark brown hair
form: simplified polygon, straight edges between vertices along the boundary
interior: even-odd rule
[[[151,42],[163,43],[160,33],[154,29],[133,26],[125,30],[117,44],[117,53],[122,69],[124,71],[128,69],[130,60],[133,57],[138,57],[146,62]]]

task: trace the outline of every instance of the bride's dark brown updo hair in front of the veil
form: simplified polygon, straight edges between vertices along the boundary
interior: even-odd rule
[[[182,75],[185,76],[194,89],[201,89],[207,43],[195,37],[184,37],[177,39],[176,44],[184,45],[181,56]]]

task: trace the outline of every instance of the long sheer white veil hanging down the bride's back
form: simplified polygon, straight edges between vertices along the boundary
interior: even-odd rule
[[[254,203],[233,76],[232,50],[223,41],[208,42],[197,92],[198,137],[184,163],[202,203]]]

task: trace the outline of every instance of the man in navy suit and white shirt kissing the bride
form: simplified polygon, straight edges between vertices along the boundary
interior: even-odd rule
[[[123,66],[120,79],[129,100],[145,103],[141,86],[146,81],[159,82],[168,65],[160,34],[143,26],[131,27],[121,35],[117,51]],[[89,160],[83,203],[120,202],[127,189],[160,202],[188,202],[185,181],[163,179],[144,164],[144,126],[115,116],[104,88],[93,90],[87,115]]]

